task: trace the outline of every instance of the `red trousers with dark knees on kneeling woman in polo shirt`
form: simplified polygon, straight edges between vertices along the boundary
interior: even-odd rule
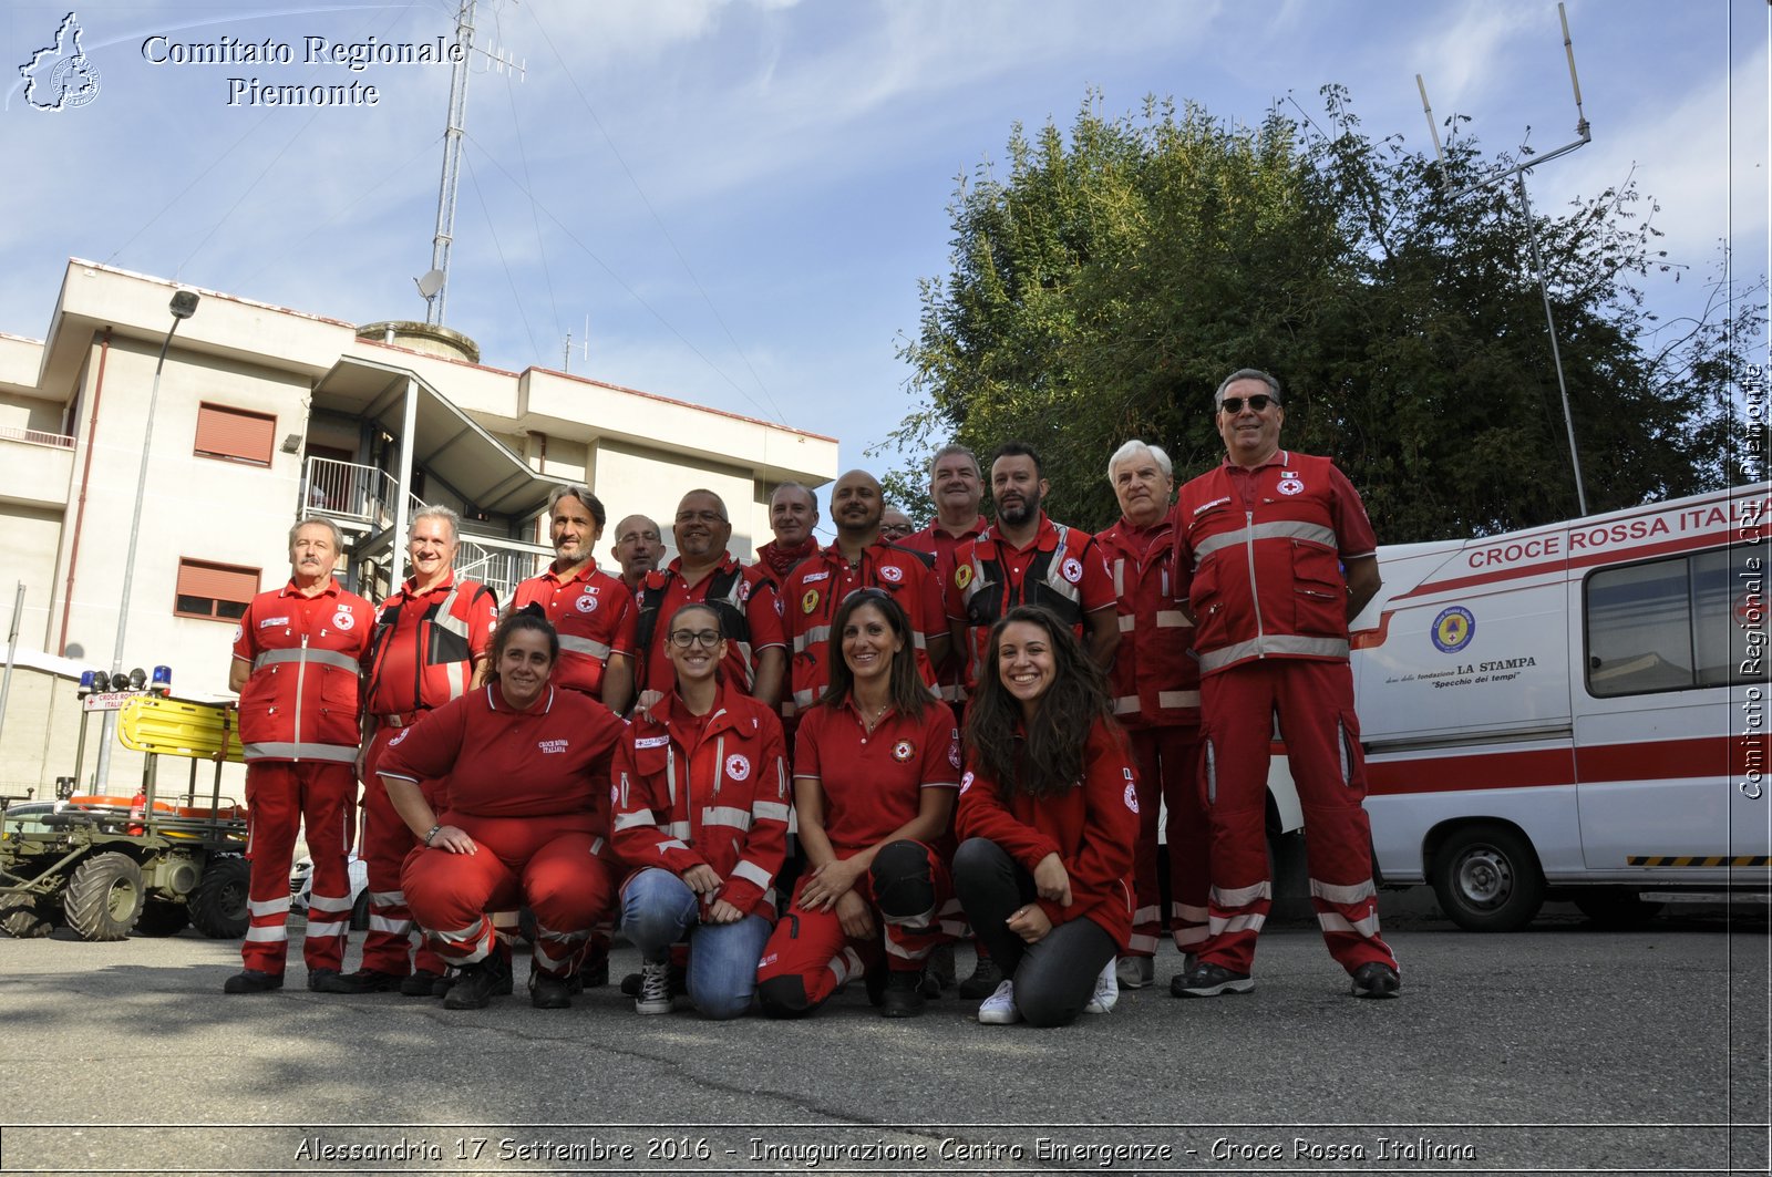
[[[806,994],[806,1010],[819,1009],[838,986],[843,986],[884,959],[893,971],[920,971],[923,959],[936,948],[966,934],[966,916],[953,895],[953,877],[941,854],[929,851],[929,881],[936,888],[936,902],[929,911],[913,916],[888,916],[874,899],[874,874],[861,872],[854,892],[868,904],[875,931],[867,939],[843,932],[836,911],[806,911],[799,893],[808,879],[794,886],[794,902],[781,913],[764,959],[757,968],[757,984],[776,977],[799,977]]]

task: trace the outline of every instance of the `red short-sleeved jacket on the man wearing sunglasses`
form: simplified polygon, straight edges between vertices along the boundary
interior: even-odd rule
[[[1366,507],[1327,457],[1228,459],[1182,487],[1175,567],[1194,612],[1200,672],[1256,658],[1347,661],[1341,560],[1370,557]]]

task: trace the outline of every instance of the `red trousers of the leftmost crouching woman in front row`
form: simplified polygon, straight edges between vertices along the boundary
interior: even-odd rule
[[[475,854],[416,847],[400,870],[413,918],[431,932],[447,963],[478,964],[496,932],[487,909],[535,913],[533,964],[549,977],[571,977],[585,955],[590,929],[615,909],[615,879],[597,856],[602,838],[590,814],[553,817],[470,817],[443,814],[480,847]]]

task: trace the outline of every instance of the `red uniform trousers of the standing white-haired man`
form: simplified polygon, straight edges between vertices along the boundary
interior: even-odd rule
[[[1132,885],[1138,909],[1127,955],[1155,955],[1162,936],[1162,888],[1157,881],[1157,810],[1168,807],[1162,837],[1170,844],[1170,934],[1182,952],[1207,938],[1207,890],[1212,886],[1205,791],[1200,787],[1200,729],[1127,729],[1138,762],[1138,846]]]

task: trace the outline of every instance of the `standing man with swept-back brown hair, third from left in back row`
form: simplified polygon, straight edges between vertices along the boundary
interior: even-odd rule
[[[510,608],[537,603],[560,631],[555,686],[601,698],[622,714],[634,697],[634,597],[597,567],[595,544],[610,516],[583,486],[556,486],[548,514],[555,562],[517,585]]]

